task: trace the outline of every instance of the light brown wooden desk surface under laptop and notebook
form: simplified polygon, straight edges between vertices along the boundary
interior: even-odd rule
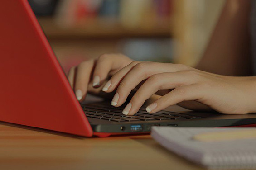
[[[0,122],[1,170],[203,170],[150,135],[83,138]]]

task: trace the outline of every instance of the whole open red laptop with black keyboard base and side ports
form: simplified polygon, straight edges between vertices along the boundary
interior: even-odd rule
[[[152,126],[225,127],[254,124],[255,114],[158,112],[136,117],[109,102],[79,104],[27,0],[0,5],[0,121],[85,137],[148,133]]]

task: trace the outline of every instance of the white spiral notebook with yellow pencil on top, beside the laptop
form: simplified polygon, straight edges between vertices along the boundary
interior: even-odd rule
[[[152,127],[151,136],[208,169],[256,169],[256,128]]]

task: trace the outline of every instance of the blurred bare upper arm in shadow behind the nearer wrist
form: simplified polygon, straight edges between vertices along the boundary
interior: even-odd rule
[[[251,0],[227,0],[199,70],[227,76],[249,76],[249,15]]]

